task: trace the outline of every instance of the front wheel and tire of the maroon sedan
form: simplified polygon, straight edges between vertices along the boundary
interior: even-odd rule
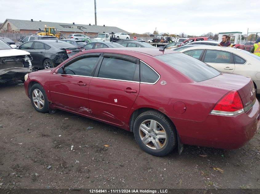
[[[40,84],[34,84],[31,87],[30,99],[35,110],[41,113],[49,112],[47,95]]]

